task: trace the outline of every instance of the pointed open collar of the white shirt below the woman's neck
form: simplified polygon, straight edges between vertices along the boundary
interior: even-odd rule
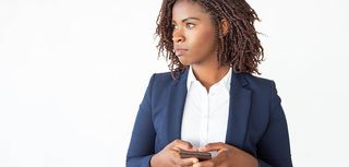
[[[186,79],[186,90],[188,91],[190,90],[191,85],[194,82],[198,82],[198,81],[196,80],[194,72],[193,72],[193,69],[190,65],[189,72],[188,72],[188,79]],[[229,68],[228,73],[220,81],[218,81],[218,83],[216,83],[216,84],[220,84],[220,85],[225,86],[227,88],[227,91],[229,92],[230,91],[230,82],[231,82],[231,68]]]

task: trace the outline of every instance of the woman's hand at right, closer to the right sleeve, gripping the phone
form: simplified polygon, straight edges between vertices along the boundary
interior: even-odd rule
[[[200,148],[202,152],[217,151],[218,154],[210,160],[200,162],[193,167],[257,167],[258,162],[249,153],[225,144],[225,143],[210,143],[205,147]]]

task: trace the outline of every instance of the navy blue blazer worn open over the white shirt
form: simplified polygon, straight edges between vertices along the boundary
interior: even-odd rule
[[[153,74],[135,119],[128,167],[148,167],[151,157],[181,139],[189,70],[173,80]],[[226,144],[258,159],[261,167],[292,167],[286,117],[274,81],[233,73]]]

